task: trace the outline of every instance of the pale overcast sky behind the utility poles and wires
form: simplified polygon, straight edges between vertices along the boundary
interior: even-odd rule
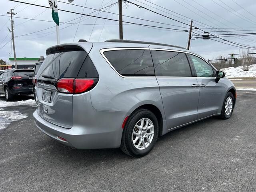
[[[17,2],[11,2],[8,0],[0,0],[1,11],[0,14],[0,48],[4,46],[11,39],[11,33],[8,32],[7,27],[10,27],[10,16],[7,14],[10,8],[14,8],[14,12],[17,13],[17,17],[24,18],[34,18],[38,20],[52,21],[51,10],[47,8],[42,8],[38,6],[28,6],[26,4],[18,4]],[[49,6],[48,0],[20,0],[23,2],[29,2],[34,4],[40,4],[43,6]],[[68,0],[62,0],[63,2],[68,2]],[[99,9],[101,6],[108,6],[117,0],[74,0],[72,4],[86,7]],[[145,0],[130,0],[136,4],[145,6],[151,10],[164,14],[168,17],[174,18],[186,24],[190,24],[190,20],[194,20],[193,26],[196,26],[204,31],[216,31],[214,28],[241,28],[241,29],[221,29],[221,30],[244,30],[243,28],[249,27],[252,31],[246,32],[256,32],[256,1],[255,0],[148,0],[162,6],[168,10],[174,11],[170,12],[164,10],[163,8],[154,6]],[[225,4],[230,6],[228,8]],[[17,6],[18,4],[18,6]],[[201,5],[201,6],[200,6]],[[240,6],[239,6],[240,5]],[[15,7],[16,6],[16,7]],[[152,6],[152,7],[150,7]],[[241,7],[242,6],[242,7]],[[73,12],[82,13],[83,8],[64,4],[58,2],[58,8],[63,10],[69,10]],[[158,8],[160,10],[157,10]],[[243,9],[244,8],[244,9]],[[113,13],[118,13],[118,4],[110,8],[104,9]],[[164,10],[162,12],[161,10]],[[85,8],[84,14],[89,14],[94,10]],[[98,15],[101,17],[108,17],[118,20],[118,15],[108,14],[106,12],[98,11],[92,13],[92,15]],[[165,18],[158,14],[152,13],[143,8],[138,8],[132,4],[123,3],[123,20],[128,22],[136,22],[140,24],[147,24],[153,26],[161,26],[166,28],[175,29],[185,29],[188,28],[187,25],[176,22],[169,18]],[[148,22],[143,20],[138,20],[134,18],[128,18],[126,16],[132,16],[137,18],[143,18],[146,20],[152,20],[157,22],[162,22],[166,24],[158,24],[154,22]],[[185,18],[186,16],[187,18]],[[67,13],[59,11],[60,22],[71,21],[71,23],[78,23],[80,20],[80,15]],[[94,23],[96,25],[93,28]],[[105,23],[105,26],[103,24]],[[54,22],[46,21],[36,21],[27,20],[21,18],[14,18],[14,36],[15,46],[16,46],[16,57],[33,57],[38,58],[40,56],[46,56],[46,48],[56,44],[56,28]],[[167,25],[169,24],[169,25]],[[171,26],[176,25],[176,26]],[[207,26],[208,25],[208,26]],[[179,26],[179,27],[177,27]],[[60,42],[69,43],[77,42],[79,39],[85,39],[92,42],[105,41],[108,39],[118,39],[118,22],[110,21],[98,18],[92,18],[89,16],[83,16],[77,30],[77,24],[62,24],[60,23]],[[206,29],[212,27],[213,29]],[[243,27],[243,28],[242,28]],[[254,27],[254,28],[253,28]],[[44,30],[49,28],[47,30]],[[42,31],[40,31],[42,30]],[[77,33],[76,33],[77,30]],[[156,28],[148,28],[145,26],[138,26],[134,24],[125,24],[123,26],[124,39],[128,40],[141,40],[150,42],[159,42],[166,44],[173,44],[178,46],[187,46],[188,42],[188,32],[178,32],[171,30],[163,30]],[[254,31],[253,31],[254,30]],[[40,31],[37,33],[32,33]],[[196,30],[193,30],[196,32]],[[218,30],[219,31],[219,30]],[[32,33],[32,34],[29,34]],[[76,36],[75,36],[76,33]],[[244,33],[244,32],[225,32],[225,33]],[[28,35],[24,35],[28,34]],[[216,32],[216,34],[221,34]],[[24,35],[24,36],[22,36]],[[74,38],[75,36],[75,38]],[[256,46],[256,36],[244,36],[244,37],[225,37],[225,39],[239,44],[245,44],[250,46]],[[220,40],[220,39],[218,39]],[[222,40],[220,40],[222,41]],[[2,43],[1,43],[2,42]],[[223,41],[222,41],[223,42]],[[220,42],[215,42],[213,40],[202,40],[196,39],[192,40],[191,48],[193,52],[202,55],[206,59],[211,59],[216,56],[227,56],[231,53],[239,53],[240,48],[222,44]],[[0,59],[8,60],[9,53],[11,57],[13,56],[13,51],[11,52],[11,41],[0,50]]]

